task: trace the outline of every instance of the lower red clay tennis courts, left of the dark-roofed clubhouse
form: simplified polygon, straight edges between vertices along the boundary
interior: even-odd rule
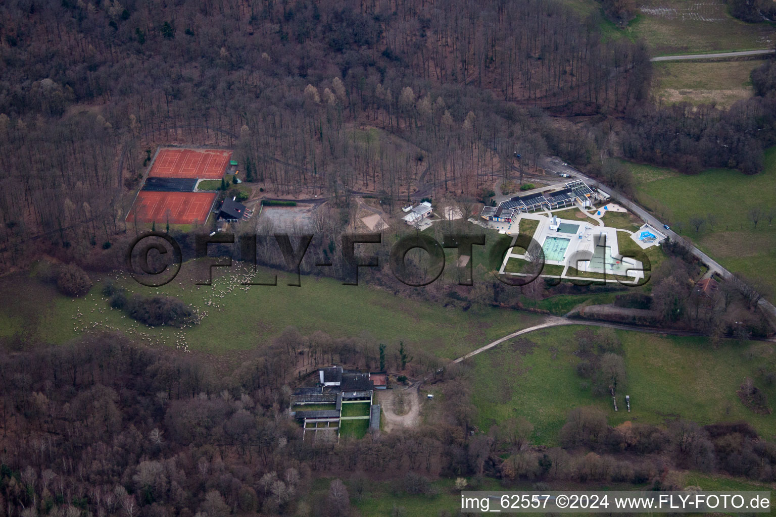
[[[137,211],[137,222],[203,223],[215,200],[216,194],[211,192],[140,191],[126,221],[134,222]]]

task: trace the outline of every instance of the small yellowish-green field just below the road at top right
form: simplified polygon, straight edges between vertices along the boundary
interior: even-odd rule
[[[762,60],[657,62],[653,64],[652,91],[661,102],[714,102],[728,107],[752,96],[749,74],[763,63]]]

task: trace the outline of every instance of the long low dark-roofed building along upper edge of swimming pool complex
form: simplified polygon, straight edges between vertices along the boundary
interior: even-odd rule
[[[593,191],[582,180],[570,181],[563,185],[547,188],[545,191],[517,195],[501,202],[497,207],[486,206],[480,217],[488,221],[511,222],[517,212],[535,212],[537,210],[555,210],[572,206],[575,202],[587,207],[592,205]],[[509,213],[510,219],[503,215]]]

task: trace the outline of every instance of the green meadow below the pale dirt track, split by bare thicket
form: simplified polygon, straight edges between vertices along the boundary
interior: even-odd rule
[[[679,416],[701,424],[745,419],[764,438],[776,437],[776,419],[755,415],[736,395],[748,376],[774,399],[776,388],[766,387],[756,373],[762,364],[774,367],[771,346],[726,342],[714,348],[708,339],[618,331],[628,375],[618,402],[623,405],[630,395],[632,412],[614,412],[611,399],[591,395],[586,380],[574,370],[579,362],[573,354],[577,329],[580,326],[540,330],[521,336],[535,346],[518,338],[473,358],[472,402],[479,410],[481,430],[525,416],[535,426],[535,442],[553,445],[570,409],[597,405],[611,425],[626,420],[665,424]]]

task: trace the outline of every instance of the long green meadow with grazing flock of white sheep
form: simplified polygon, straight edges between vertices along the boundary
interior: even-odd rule
[[[24,329],[27,339],[63,343],[85,329],[114,329],[144,336],[144,341],[152,345],[175,346],[183,340],[190,350],[223,353],[250,350],[287,326],[296,326],[303,335],[323,330],[334,337],[345,337],[366,331],[388,344],[389,350],[403,339],[417,349],[452,359],[532,326],[539,318],[500,308],[485,308],[476,314],[464,312],[323,277],[303,277],[302,286],[296,288],[286,285],[289,279],[281,273],[277,286],[246,287],[240,284],[236,268],[213,268],[213,286],[196,285],[203,277],[192,262],[183,264],[178,277],[164,288],[146,288],[131,278],[120,279],[130,293],[173,295],[206,312],[203,322],[185,329],[183,337],[179,329],[148,328],[123,317],[123,312],[111,310],[101,292],[105,276],[95,277],[92,291],[77,299],[60,295],[50,284],[27,275],[0,279],[0,292],[15,293],[13,304],[0,307],[0,322],[8,322],[0,332],[11,336]],[[272,281],[274,274],[261,270],[255,281]],[[76,317],[78,313],[81,315]]]

